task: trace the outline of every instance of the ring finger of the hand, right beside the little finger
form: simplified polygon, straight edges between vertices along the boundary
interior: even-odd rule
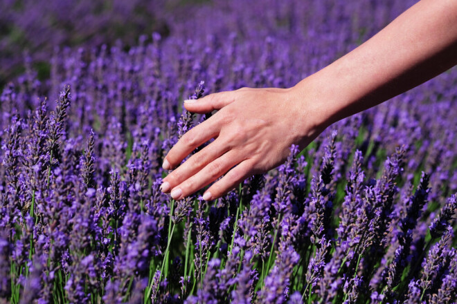
[[[210,182],[217,180],[220,176],[230,170],[235,164],[240,162],[238,151],[231,150],[217,158],[213,162],[201,169],[197,174],[191,176],[171,191],[171,196],[174,200],[180,200],[195,191],[205,187]]]

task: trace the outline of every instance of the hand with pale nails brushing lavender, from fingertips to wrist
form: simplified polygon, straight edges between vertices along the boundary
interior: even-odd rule
[[[249,176],[282,164],[292,144],[304,149],[323,130],[310,111],[313,103],[298,98],[294,88],[240,88],[187,100],[184,106],[193,113],[219,111],[190,129],[165,156],[163,169],[172,169],[215,138],[163,179],[161,190],[171,189],[175,200],[225,174],[204,193],[204,200],[215,200]]]

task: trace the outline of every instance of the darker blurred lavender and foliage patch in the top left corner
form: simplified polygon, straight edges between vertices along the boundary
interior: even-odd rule
[[[116,39],[134,44],[141,32],[156,30],[166,34],[166,23],[160,17],[164,3],[161,0],[1,1],[0,86],[28,65],[36,66],[40,77],[46,77],[49,53],[55,46],[100,46],[112,44]],[[176,5],[175,1],[167,3]]]

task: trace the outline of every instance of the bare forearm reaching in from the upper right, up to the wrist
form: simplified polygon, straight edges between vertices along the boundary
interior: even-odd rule
[[[314,95],[316,116],[328,126],[456,64],[457,1],[422,0],[294,91],[298,98]]]

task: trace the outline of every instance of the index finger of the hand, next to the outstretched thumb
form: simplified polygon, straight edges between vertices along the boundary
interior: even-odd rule
[[[212,116],[208,120],[190,129],[168,152],[163,160],[162,168],[170,170],[177,167],[190,152],[204,144],[211,138],[217,137],[220,131],[217,117]]]

